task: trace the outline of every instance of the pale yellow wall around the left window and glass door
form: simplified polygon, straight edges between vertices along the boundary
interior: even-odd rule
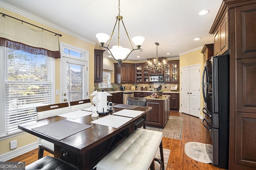
[[[89,65],[89,88],[88,88],[89,91],[91,88],[94,87],[94,45],[93,44],[83,41],[81,39],[78,39],[76,37],[72,37],[72,36],[70,36],[66,33],[63,33],[61,31],[58,31],[56,29],[52,29],[51,27],[48,27],[41,23],[35,22],[33,20],[30,20],[30,19],[20,16],[18,14],[15,14],[6,9],[0,8],[0,11],[6,15],[10,15],[10,16],[18,18],[20,20],[24,20],[26,22],[37,25],[39,27],[43,27],[44,29],[48,29],[50,31],[62,34],[62,37],[59,37],[60,42],[64,42],[66,44],[69,44],[69,45],[72,45],[75,47],[79,47],[81,49],[85,49],[85,50],[89,51],[89,64],[88,64]],[[33,28],[35,28],[35,27],[33,27]],[[1,60],[2,59],[0,59],[0,62],[1,62]],[[55,89],[60,89],[60,76],[61,76],[60,75],[60,59],[55,59],[55,68],[56,68],[55,69]],[[60,95],[55,96],[55,102],[56,103],[60,102]],[[10,151],[13,151],[13,150],[10,150],[10,141],[15,140],[15,139],[17,139],[17,141],[18,141],[17,149],[37,141],[37,137],[27,134],[27,133],[1,140],[0,141],[0,155],[5,154]],[[14,149],[14,150],[16,150],[16,149]]]

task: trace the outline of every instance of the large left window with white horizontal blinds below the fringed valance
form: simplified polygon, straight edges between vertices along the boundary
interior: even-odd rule
[[[35,121],[36,106],[53,103],[54,60],[5,47],[0,48],[0,56],[4,59],[0,65],[4,83],[0,86],[5,95],[0,106],[5,108],[6,117],[5,127],[0,125],[2,136],[20,132],[18,125],[21,123]]]

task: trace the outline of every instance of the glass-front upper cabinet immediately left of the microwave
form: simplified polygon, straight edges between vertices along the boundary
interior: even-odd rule
[[[149,83],[148,64],[135,65],[135,78],[136,83]]]

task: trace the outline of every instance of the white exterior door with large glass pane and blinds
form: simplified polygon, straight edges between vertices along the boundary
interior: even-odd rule
[[[62,102],[88,98],[87,62],[62,57]]]

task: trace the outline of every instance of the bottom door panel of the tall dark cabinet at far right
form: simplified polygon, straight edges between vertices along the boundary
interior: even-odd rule
[[[236,163],[256,167],[256,114],[236,113]]]

